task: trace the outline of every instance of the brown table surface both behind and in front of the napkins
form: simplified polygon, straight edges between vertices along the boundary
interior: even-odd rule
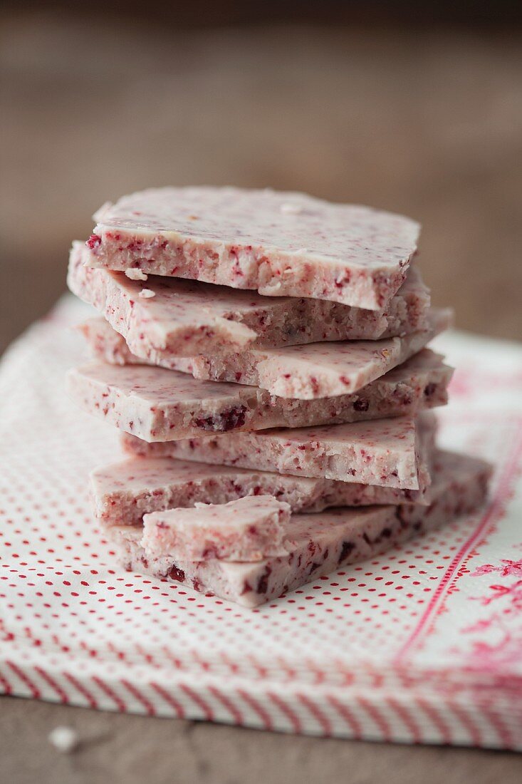
[[[520,35],[182,31],[4,17],[0,350],[64,290],[103,201],[149,185],[289,188],[422,221],[457,325],[522,337]],[[6,782],[520,781],[520,757],[387,746],[2,699]],[[56,724],[82,746],[60,756]]]

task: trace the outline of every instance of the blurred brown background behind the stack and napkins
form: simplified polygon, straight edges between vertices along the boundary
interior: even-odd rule
[[[414,216],[434,301],[522,337],[522,4],[434,5],[4,4],[0,350],[103,201],[187,183]]]

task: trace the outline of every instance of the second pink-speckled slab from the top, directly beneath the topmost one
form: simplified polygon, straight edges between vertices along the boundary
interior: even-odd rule
[[[264,297],[224,286],[93,269],[91,251],[74,242],[67,283],[100,310],[136,357],[190,357],[245,347],[281,347],[320,340],[375,340],[425,326],[430,293],[419,270],[408,277],[386,310],[363,310],[325,299]],[[158,363],[161,364],[161,363]]]

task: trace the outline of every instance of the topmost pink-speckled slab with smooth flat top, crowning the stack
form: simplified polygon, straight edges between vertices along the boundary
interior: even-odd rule
[[[418,223],[390,212],[231,187],[151,188],[94,220],[92,267],[370,310],[401,287],[419,238]]]

